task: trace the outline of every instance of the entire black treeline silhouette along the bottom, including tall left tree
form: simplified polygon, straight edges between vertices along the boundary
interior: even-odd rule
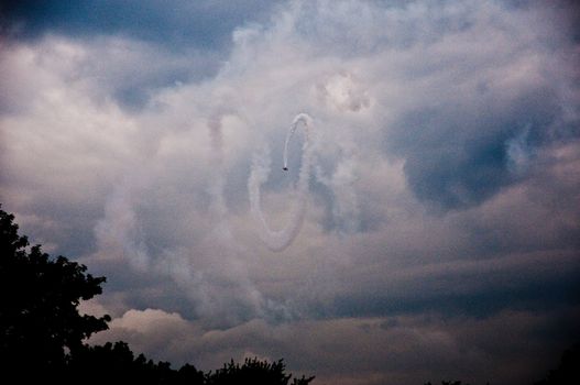
[[[135,355],[123,341],[87,344],[91,334],[109,328],[111,318],[80,315],[78,305],[101,294],[106,278],[94,277],[85,265],[64,256],[52,258],[40,245],[30,248],[13,220],[0,204],[0,382],[308,385],[314,380],[293,378],[283,360],[247,359],[242,364],[232,360],[204,373],[191,364],[175,370],[168,362]],[[579,348],[565,352],[560,366],[534,385],[580,384]]]

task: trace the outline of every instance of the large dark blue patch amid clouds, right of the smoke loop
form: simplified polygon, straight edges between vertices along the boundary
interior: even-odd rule
[[[530,152],[549,145],[555,131],[568,131],[552,89],[526,90],[502,103],[490,100],[493,94],[478,95],[474,106],[414,110],[395,123],[389,150],[405,157],[419,199],[445,209],[481,204],[522,177],[512,169],[511,141],[522,138],[521,151]]]

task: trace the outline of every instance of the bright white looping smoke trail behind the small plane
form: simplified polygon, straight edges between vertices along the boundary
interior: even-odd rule
[[[294,241],[300,230],[306,211],[308,180],[310,178],[311,163],[311,146],[308,131],[311,130],[313,127],[313,119],[307,113],[299,113],[294,118],[286,135],[283,157],[284,169],[287,169],[288,143],[300,122],[303,123],[302,127],[305,129],[305,140],[303,144],[302,165],[296,188],[297,200],[295,201],[291,220],[286,228],[277,231],[270,229],[260,204],[260,187],[267,179],[270,174],[270,151],[267,147],[263,150],[262,154],[254,155],[252,162],[252,172],[250,174],[250,179],[248,180],[252,216],[259,224],[260,238],[272,251],[282,251]]]

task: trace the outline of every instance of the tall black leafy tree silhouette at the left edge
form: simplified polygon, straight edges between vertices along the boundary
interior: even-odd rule
[[[64,256],[53,260],[40,245],[29,248],[13,220],[0,210],[0,363],[12,372],[57,372],[84,339],[107,329],[109,316],[77,308],[101,294],[105,277]]]

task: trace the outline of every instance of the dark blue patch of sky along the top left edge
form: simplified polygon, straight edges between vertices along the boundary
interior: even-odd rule
[[[7,32],[17,38],[44,33],[65,35],[125,34],[172,46],[221,50],[232,30],[265,18],[273,1],[4,1],[0,10]]]

